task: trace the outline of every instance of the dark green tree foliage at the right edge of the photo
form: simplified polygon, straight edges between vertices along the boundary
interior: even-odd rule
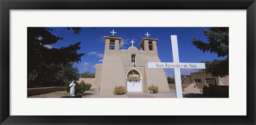
[[[196,48],[211,54],[217,54],[218,57],[224,57],[223,60],[206,61],[206,73],[211,73],[213,77],[225,77],[229,72],[229,29],[228,27],[211,27],[208,31],[204,28],[204,34],[207,37],[207,43],[196,39],[192,39],[192,43]]]

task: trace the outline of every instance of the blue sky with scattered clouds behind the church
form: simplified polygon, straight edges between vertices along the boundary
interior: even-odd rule
[[[52,34],[60,36],[63,40],[59,40],[56,44],[47,46],[48,48],[61,48],[69,44],[74,44],[81,41],[81,49],[78,53],[84,53],[81,62],[74,63],[79,69],[80,73],[90,71],[95,72],[95,64],[101,63],[99,60],[103,59],[105,41],[104,36],[112,35],[110,31],[113,29],[117,34],[115,36],[122,38],[120,45],[121,49],[127,49],[132,46],[131,40],[135,41],[134,46],[139,47],[139,43],[143,37],[157,38],[158,56],[161,62],[173,62],[171,49],[171,35],[177,35],[180,62],[198,63],[201,61],[212,61],[218,58],[217,54],[210,54],[210,52],[203,53],[197,49],[191,40],[193,37],[207,41],[201,27],[84,27],[79,32],[79,35],[74,34],[73,31],[67,31],[66,27],[51,27]],[[166,77],[173,77],[173,69],[164,69]],[[196,72],[197,69],[181,69],[181,74],[189,74]]]

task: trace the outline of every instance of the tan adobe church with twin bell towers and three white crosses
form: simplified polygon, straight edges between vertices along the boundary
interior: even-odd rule
[[[113,30],[114,32],[114,30]],[[147,62],[161,62],[157,53],[156,38],[145,37],[138,50],[133,46],[120,50],[122,38],[105,36],[105,52],[102,64],[96,64],[95,86],[101,95],[113,95],[115,86],[129,91],[149,93],[148,87],[157,85],[159,92],[170,91],[163,69],[148,69]]]

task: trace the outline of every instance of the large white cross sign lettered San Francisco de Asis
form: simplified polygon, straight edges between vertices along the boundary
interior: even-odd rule
[[[176,97],[182,98],[180,69],[205,69],[204,63],[180,63],[177,36],[171,35],[173,63],[148,62],[148,68],[174,69]]]

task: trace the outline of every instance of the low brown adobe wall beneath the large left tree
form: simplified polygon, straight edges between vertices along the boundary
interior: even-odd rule
[[[65,87],[40,87],[40,88],[28,88],[27,96],[40,95],[51,93],[54,91],[65,91]]]

